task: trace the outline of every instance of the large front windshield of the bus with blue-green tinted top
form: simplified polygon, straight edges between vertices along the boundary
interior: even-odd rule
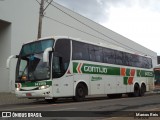
[[[16,81],[35,81],[50,78],[50,68],[43,62],[43,52],[53,47],[54,40],[47,39],[23,45],[16,69]]]

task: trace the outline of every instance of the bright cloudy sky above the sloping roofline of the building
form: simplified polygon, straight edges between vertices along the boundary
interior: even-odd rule
[[[160,55],[160,0],[54,0]]]

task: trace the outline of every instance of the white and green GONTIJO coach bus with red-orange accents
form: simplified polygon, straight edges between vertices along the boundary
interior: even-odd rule
[[[83,101],[86,96],[143,96],[154,87],[150,57],[69,37],[26,43],[18,58],[15,94],[24,98],[61,97]]]

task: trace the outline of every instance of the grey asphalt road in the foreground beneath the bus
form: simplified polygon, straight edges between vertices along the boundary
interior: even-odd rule
[[[28,113],[26,113],[26,111],[28,111],[37,113],[37,116],[42,116],[42,118],[33,118],[33,120],[160,120],[160,94],[146,95],[143,97],[123,97],[119,99],[96,97],[87,98],[84,102],[73,102],[72,99],[60,99],[53,104],[48,104],[44,101],[35,101],[1,105],[0,111],[17,112],[21,113],[21,115],[27,114],[26,116],[28,116]],[[133,117],[136,116],[136,114],[142,116]],[[18,114],[14,114],[14,116],[16,115]],[[52,117],[44,118],[45,115]],[[0,119],[8,120],[9,118]],[[22,118],[18,117],[15,119]],[[23,120],[24,119],[28,118],[23,118]]]

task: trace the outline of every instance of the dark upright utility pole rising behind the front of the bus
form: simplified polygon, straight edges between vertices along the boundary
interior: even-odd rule
[[[37,36],[37,38],[41,38],[43,13],[44,13],[44,0],[41,0],[40,9],[39,9],[39,23],[38,23],[38,36]]]

